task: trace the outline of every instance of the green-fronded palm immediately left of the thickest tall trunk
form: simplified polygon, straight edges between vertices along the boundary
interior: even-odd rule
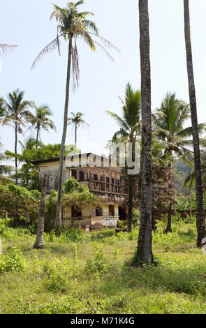
[[[120,98],[120,97],[119,97]],[[117,121],[120,130],[115,133],[112,138],[113,142],[117,141],[117,138],[121,137],[125,143],[130,142],[135,149],[135,142],[140,140],[141,134],[141,93],[140,90],[134,91],[131,84],[126,84],[125,100],[122,100],[122,117],[114,112],[107,113]],[[133,154],[132,154],[133,156]],[[134,161],[134,156],[133,156]],[[132,213],[133,213],[133,188],[134,188],[134,176],[128,174],[128,231],[131,232]]]

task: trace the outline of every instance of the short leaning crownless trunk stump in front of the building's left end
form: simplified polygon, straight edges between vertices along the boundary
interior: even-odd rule
[[[34,244],[34,248],[36,248],[36,249],[44,248],[43,230],[44,230],[44,222],[45,222],[46,188],[47,188],[47,175],[45,175],[43,178],[43,184],[42,184],[42,189],[41,189],[41,201],[40,201],[39,216],[38,216],[38,228],[37,228],[37,234],[36,234],[36,241]]]

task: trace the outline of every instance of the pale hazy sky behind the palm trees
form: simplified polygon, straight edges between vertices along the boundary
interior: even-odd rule
[[[65,6],[66,0],[54,0]],[[199,122],[206,121],[206,1],[190,0],[193,63],[196,77]],[[47,104],[54,113],[57,133],[42,133],[42,141],[61,142],[66,84],[67,45],[61,43],[61,57],[54,50],[30,72],[38,52],[56,36],[56,22],[50,22],[52,4],[47,0],[1,0],[0,43],[23,45],[1,63],[1,94],[17,88],[25,91],[25,99],[37,105]],[[70,112],[84,112],[90,128],[78,131],[82,151],[101,154],[117,125],[105,110],[120,113],[126,82],[140,88],[140,53],[138,31],[138,0],[85,0],[82,10],[95,13],[92,18],[101,36],[115,44],[122,54],[112,51],[112,63],[101,50],[92,53],[87,45],[78,43],[80,55],[80,87],[71,93]],[[183,0],[150,0],[150,38],[152,62],[152,110],[158,107],[165,93],[175,91],[177,97],[189,101],[184,47]],[[27,133],[29,135],[30,133]],[[14,131],[1,127],[1,142],[14,149]],[[26,136],[27,136],[26,135]],[[25,136],[25,137],[26,137]],[[24,139],[20,137],[20,139]],[[73,142],[68,128],[66,143]]]

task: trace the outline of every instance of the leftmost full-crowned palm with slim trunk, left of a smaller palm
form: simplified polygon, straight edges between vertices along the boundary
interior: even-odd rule
[[[28,122],[32,117],[31,112],[27,110],[31,107],[31,102],[23,100],[23,98],[24,91],[17,89],[8,94],[8,101],[3,99],[7,120],[10,121],[10,124],[13,124],[15,129],[15,155],[17,155],[18,133],[22,133],[22,126],[25,126],[24,122]],[[15,169],[17,171],[17,157],[15,158]]]

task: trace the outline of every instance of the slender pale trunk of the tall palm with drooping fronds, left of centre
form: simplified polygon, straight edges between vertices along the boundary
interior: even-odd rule
[[[66,132],[68,125],[68,103],[69,103],[69,89],[70,89],[70,79],[71,79],[71,56],[72,56],[72,38],[69,38],[68,45],[68,68],[67,68],[67,78],[66,78],[66,100],[64,108],[64,128],[61,140],[61,153],[59,160],[59,184],[58,184],[58,198],[57,198],[57,218],[56,218],[56,232],[61,228],[61,197],[62,197],[62,185],[63,185],[63,164],[64,164],[64,151],[66,142]]]

